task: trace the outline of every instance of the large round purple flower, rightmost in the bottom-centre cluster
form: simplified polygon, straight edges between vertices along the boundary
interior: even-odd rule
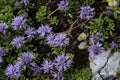
[[[71,61],[68,54],[62,54],[57,56],[54,60],[54,65],[58,71],[66,71],[67,68],[70,67]]]

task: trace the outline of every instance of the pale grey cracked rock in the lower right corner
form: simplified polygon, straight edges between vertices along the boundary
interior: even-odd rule
[[[116,72],[120,70],[120,52],[111,53],[110,49],[89,60],[94,75],[92,80],[117,80],[115,77]]]

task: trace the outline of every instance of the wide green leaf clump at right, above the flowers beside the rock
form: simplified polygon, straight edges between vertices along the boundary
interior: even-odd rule
[[[113,20],[108,17],[102,18],[100,15],[99,18],[91,20],[86,28],[90,30],[90,34],[99,32],[104,39],[108,39],[113,36],[114,27]]]

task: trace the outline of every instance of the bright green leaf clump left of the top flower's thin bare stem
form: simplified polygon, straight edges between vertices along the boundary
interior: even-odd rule
[[[44,22],[44,20],[46,19],[47,13],[48,13],[47,12],[47,8],[45,6],[41,6],[41,8],[36,13],[36,19],[37,19],[37,21]]]

